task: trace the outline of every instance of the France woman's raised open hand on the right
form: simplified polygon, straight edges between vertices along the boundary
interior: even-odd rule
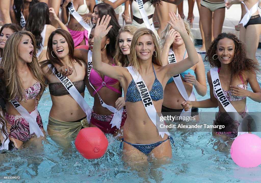
[[[176,16],[176,14],[174,12],[170,12],[169,13],[169,18],[170,18],[170,22],[168,21],[168,23],[170,24],[170,26],[172,27],[172,29],[175,29],[176,31],[178,31],[180,34],[185,33],[187,34],[187,30],[186,27],[184,25],[183,20],[180,17],[180,14],[178,14],[179,17]]]

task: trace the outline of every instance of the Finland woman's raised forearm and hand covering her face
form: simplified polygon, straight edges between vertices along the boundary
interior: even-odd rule
[[[169,48],[172,45],[175,37],[176,37],[176,31],[174,29],[170,29],[168,36],[166,38],[166,42],[165,42],[162,52],[161,52],[161,59],[162,59],[163,65],[167,65],[169,63],[168,62]]]

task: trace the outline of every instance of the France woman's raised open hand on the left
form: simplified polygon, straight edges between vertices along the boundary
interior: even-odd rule
[[[103,15],[102,20],[100,21],[100,18],[98,18],[96,27],[94,29],[94,39],[102,39],[103,37],[105,37],[109,30],[111,29],[112,25],[109,25],[111,20],[111,17],[109,15],[107,15],[105,17],[105,15]],[[107,28],[108,27],[108,28]]]

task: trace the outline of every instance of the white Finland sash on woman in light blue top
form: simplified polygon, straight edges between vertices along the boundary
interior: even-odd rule
[[[170,63],[176,63],[176,58],[175,58],[175,54],[172,50],[172,48],[169,49],[169,56],[168,56],[168,62]],[[194,90],[192,88],[192,92],[190,94],[190,96],[188,97],[187,91],[185,89],[185,86],[183,84],[183,81],[181,79],[181,76],[178,74],[176,76],[173,76],[172,79],[174,80],[181,96],[186,100],[186,101],[195,101],[196,96],[194,93]],[[188,111],[185,111],[184,109],[182,110],[181,117],[190,117],[191,116],[191,108]]]

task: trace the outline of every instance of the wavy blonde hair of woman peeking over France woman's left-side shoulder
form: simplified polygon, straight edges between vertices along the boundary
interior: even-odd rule
[[[124,25],[123,27],[121,27],[121,29],[119,30],[118,36],[116,38],[116,53],[113,59],[113,62],[115,63],[115,65],[120,65],[123,67],[126,67],[129,63],[128,57],[127,55],[123,55],[122,53],[120,53],[121,49],[119,46],[119,41],[120,41],[120,34],[122,32],[128,32],[131,35],[134,35],[134,33],[138,30],[137,27],[133,26],[133,25]]]

